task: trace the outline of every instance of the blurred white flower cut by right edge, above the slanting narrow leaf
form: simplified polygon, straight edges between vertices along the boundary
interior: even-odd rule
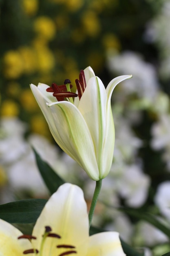
[[[170,181],[159,184],[155,195],[155,204],[163,216],[170,220]]]

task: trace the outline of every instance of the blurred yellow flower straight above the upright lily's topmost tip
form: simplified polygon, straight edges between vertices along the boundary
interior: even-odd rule
[[[82,24],[84,26],[84,32],[88,36],[95,37],[99,34],[100,24],[94,11],[86,11],[82,15]]]

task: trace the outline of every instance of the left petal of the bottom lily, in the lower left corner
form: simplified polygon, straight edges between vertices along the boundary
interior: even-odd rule
[[[32,248],[29,240],[18,240],[22,233],[8,222],[0,219],[0,255],[23,256],[23,251]],[[31,254],[32,255],[32,254]]]

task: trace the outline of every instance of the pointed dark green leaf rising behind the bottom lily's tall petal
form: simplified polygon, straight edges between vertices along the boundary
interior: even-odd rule
[[[35,153],[35,158],[40,174],[52,195],[59,188],[59,186],[61,186],[65,182],[59,175],[57,175],[57,173],[55,173],[55,171],[49,166],[49,164],[42,160],[42,158],[40,157],[40,155],[38,155],[35,149],[33,149],[33,151]]]

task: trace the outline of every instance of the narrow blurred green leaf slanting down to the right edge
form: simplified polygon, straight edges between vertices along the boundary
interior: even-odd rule
[[[137,211],[135,209],[128,209],[125,207],[119,207],[118,210],[123,211],[124,213],[127,213],[129,216],[135,217],[138,220],[145,220],[152,224],[157,229],[161,230],[164,234],[166,234],[170,238],[170,229],[166,227],[161,221],[159,221],[157,218],[155,218],[154,215],[150,213],[144,213],[141,211]]]

